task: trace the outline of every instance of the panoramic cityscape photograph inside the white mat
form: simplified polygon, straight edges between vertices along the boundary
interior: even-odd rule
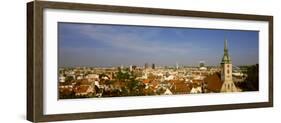
[[[58,23],[58,99],[259,91],[259,31]]]

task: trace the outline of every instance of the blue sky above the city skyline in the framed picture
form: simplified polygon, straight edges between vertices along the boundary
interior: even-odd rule
[[[234,65],[258,63],[258,31],[59,23],[59,66],[219,65],[224,40]]]

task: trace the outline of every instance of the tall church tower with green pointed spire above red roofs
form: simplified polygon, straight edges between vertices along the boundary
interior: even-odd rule
[[[221,92],[237,92],[232,79],[232,61],[228,54],[227,40],[224,41],[224,54],[221,61]]]

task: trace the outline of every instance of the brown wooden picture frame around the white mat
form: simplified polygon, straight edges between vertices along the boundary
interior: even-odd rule
[[[154,109],[137,109],[122,111],[101,111],[101,112],[81,112],[68,114],[44,114],[44,84],[43,78],[43,54],[44,54],[44,10],[81,10],[113,13],[131,13],[144,15],[164,15],[174,17],[196,17],[215,18],[230,20],[253,20],[268,22],[268,101],[207,105],[207,106],[186,106],[186,107],[165,107]],[[187,10],[170,10],[156,8],[140,8],[125,6],[94,5],[80,3],[62,3],[34,1],[27,3],[27,120],[32,122],[80,120],[93,118],[124,117],[139,115],[156,115],[185,112],[201,112],[214,110],[231,110],[244,108],[260,108],[273,106],[273,16],[232,14],[217,12],[201,12]]]

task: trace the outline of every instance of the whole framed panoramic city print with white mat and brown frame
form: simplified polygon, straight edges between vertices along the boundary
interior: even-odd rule
[[[34,122],[273,106],[273,17],[27,3]]]

